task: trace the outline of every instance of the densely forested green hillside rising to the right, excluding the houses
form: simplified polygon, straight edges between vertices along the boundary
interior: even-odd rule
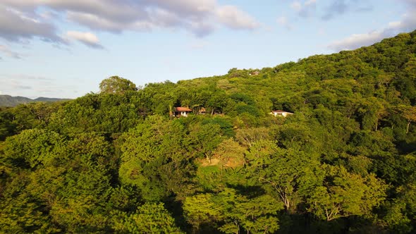
[[[0,111],[0,232],[416,231],[416,32],[99,87]]]

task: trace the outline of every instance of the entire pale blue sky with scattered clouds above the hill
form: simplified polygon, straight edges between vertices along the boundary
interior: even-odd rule
[[[416,30],[416,0],[0,0],[0,94],[76,98],[274,67]]]

